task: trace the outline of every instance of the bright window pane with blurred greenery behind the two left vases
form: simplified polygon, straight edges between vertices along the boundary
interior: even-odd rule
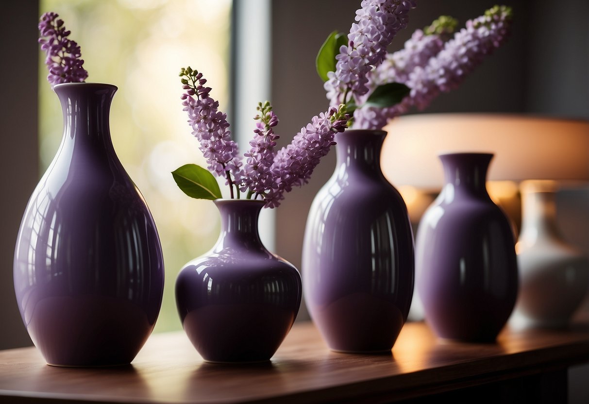
[[[82,50],[88,82],[117,85],[111,136],[127,173],[145,197],[160,233],[166,286],[156,332],[181,328],[174,300],[180,268],[219,235],[210,201],[184,195],[170,174],[180,165],[206,166],[181,107],[181,67],[202,71],[220,108],[229,105],[230,0],[41,0],[57,12]],[[41,171],[62,134],[61,107],[39,60]],[[254,105],[255,107],[255,105]]]

